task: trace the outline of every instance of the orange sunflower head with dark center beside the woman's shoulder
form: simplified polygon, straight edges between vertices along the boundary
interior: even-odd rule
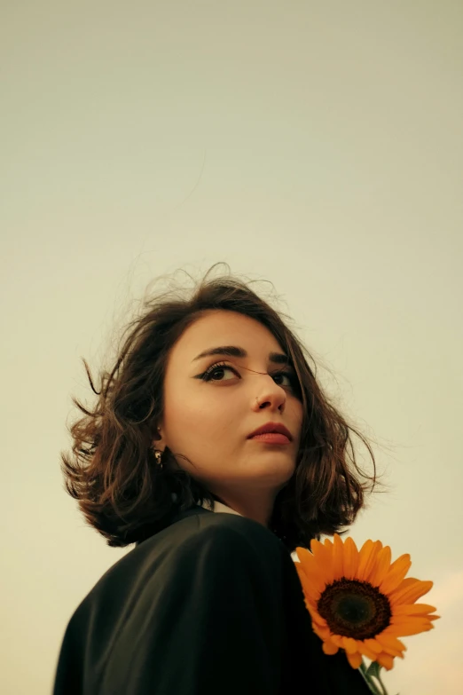
[[[323,651],[344,649],[353,668],[363,656],[390,669],[395,657],[404,658],[401,636],[434,628],[438,615],[432,605],[416,604],[432,581],[404,579],[412,565],[410,555],[397,557],[381,541],[366,541],[360,550],[351,538],[345,542],[313,540],[310,550],[296,548],[294,566],[301,580],[305,604]]]

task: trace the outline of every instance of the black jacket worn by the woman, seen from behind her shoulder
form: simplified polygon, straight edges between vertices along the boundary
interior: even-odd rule
[[[53,695],[367,695],[326,656],[294,560],[263,525],[195,506],[98,580],[67,625]]]

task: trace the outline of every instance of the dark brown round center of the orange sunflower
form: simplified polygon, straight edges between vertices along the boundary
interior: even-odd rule
[[[318,599],[318,612],[334,635],[369,639],[388,627],[388,596],[367,581],[344,577],[328,584]]]

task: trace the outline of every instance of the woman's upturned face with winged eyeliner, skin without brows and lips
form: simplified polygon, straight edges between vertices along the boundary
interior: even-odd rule
[[[224,345],[242,348],[247,357],[198,358]],[[168,446],[176,457],[184,454],[189,462],[177,457],[180,468],[238,511],[253,499],[270,509],[294,473],[299,449],[297,377],[291,367],[272,362],[271,352],[284,351],[261,323],[213,310],[187,328],[169,354],[161,439],[153,444],[161,450]],[[217,362],[220,367],[207,377]],[[293,437],[289,444],[248,438],[270,421],[286,426]]]

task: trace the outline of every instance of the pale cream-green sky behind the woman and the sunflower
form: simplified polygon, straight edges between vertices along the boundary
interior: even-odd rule
[[[49,695],[110,549],[63,489],[148,283],[270,280],[388,492],[350,533],[412,555],[436,628],[390,695],[457,695],[463,621],[463,4],[4,2],[0,690]],[[262,283],[263,292],[270,291]],[[357,438],[360,462],[368,462]]]

